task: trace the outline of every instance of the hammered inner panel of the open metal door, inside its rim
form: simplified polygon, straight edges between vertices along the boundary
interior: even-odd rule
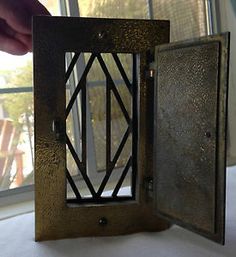
[[[162,171],[157,177],[158,208],[211,232],[215,229],[218,50],[219,44],[212,43],[158,56],[157,162]]]

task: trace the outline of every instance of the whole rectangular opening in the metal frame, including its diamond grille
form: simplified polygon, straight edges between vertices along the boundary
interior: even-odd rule
[[[135,199],[134,54],[65,54],[67,202]]]

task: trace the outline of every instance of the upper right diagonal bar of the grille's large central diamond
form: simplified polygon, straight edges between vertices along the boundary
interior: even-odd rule
[[[124,114],[124,116],[125,116],[126,122],[129,124],[129,123],[130,123],[129,114],[128,114],[128,112],[127,112],[125,106],[124,106],[124,103],[123,103],[123,101],[122,101],[122,99],[121,99],[121,97],[120,97],[120,95],[119,95],[119,92],[117,91],[117,88],[116,88],[116,86],[115,86],[115,84],[114,84],[114,82],[113,82],[113,79],[112,79],[112,77],[111,77],[111,75],[110,75],[110,73],[109,73],[109,71],[108,71],[108,69],[107,69],[107,67],[106,67],[106,64],[105,64],[105,62],[103,61],[103,59],[102,59],[102,57],[101,57],[100,54],[97,54],[97,59],[98,59],[100,65],[101,65],[101,68],[102,68],[103,72],[104,72],[105,75],[109,78],[109,80],[111,80],[111,82],[112,82],[112,83],[110,84],[111,89],[112,89],[112,91],[113,91],[113,93],[114,93],[114,95],[115,95],[115,97],[116,97],[117,102],[118,102],[119,105],[120,105],[120,108],[121,108],[121,110],[122,110],[122,112],[123,112],[123,114]]]

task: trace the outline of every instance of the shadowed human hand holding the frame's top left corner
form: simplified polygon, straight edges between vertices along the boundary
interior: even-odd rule
[[[0,0],[0,50],[23,55],[32,50],[31,18],[50,15],[38,0]]]

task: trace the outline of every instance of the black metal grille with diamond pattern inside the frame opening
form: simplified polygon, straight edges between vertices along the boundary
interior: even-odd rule
[[[75,53],[73,58],[68,65],[65,80],[66,83],[70,78],[70,75],[73,72],[76,63],[78,62],[79,58],[83,55],[83,53]],[[106,54],[107,55],[107,54]],[[66,107],[66,117],[68,118],[72,112],[73,106],[76,104],[76,101],[80,102],[80,109],[81,109],[81,152],[78,152],[75,149],[75,144],[73,142],[73,138],[71,138],[68,133],[66,135],[66,145],[69,151],[69,155],[72,157],[74,163],[76,164],[76,168],[79,171],[82,180],[79,179],[75,181],[74,177],[72,176],[73,173],[68,168],[66,168],[66,176],[67,181],[73,190],[75,198],[67,199],[68,203],[80,203],[80,202],[105,202],[105,201],[119,201],[119,200],[130,200],[134,199],[135,197],[135,181],[136,181],[136,141],[137,138],[137,99],[136,99],[136,89],[137,89],[137,74],[136,74],[136,56],[132,55],[132,75],[131,79],[122,64],[122,61],[118,54],[112,53],[109,54],[112,57],[113,62],[116,65],[117,70],[122,78],[123,84],[125,85],[128,94],[131,96],[131,106],[132,110],[128,111],[128,107],[124,103],[122,96],[118,90],[118,86],[116,81],[111,75],[109,71],[109,65],[106,63],[105,58],[100,53],[91,53],[87,64],[85,65],[84,71],[80,76],[78,84],[71,95],[67,107]],[[88,173],[87,167],[87,154],[89,152],[89,147],[87,143],[87,98],[88,98],[88,91],[89,91],[89,73],[95,61],[99,64],[100,69],[105,77],[105,175],[103,176],[102,180],[100,181],[99,185],[94,185],[91,177]],[[97,74],[99,76],[99,74]],[[99,96],[98,96],[99,97]],[[120,143],[118,148],[112,155],[112,101],[116,100],[123,118],[126,122],[126,130],[123,133],[122,137],[120,138]],[[99,106],[98,106],[99,108]],[[67,130],[68,131],[68,130]],[[113,188],[109,196],[105,193],[106,186],[109,183],[109,179],[111,178],[112,174],[114,173],[118,159],[121,156],[122,151],[124,150],[125,145],[127,144],[128,140],[131,136],[131,149],[130,153],[127,155],[127,160],[122,166],[120,176],[117,177],[116,181],[113,181]],[[131,194],[130,195],[119,195],[119,190],[122,187],[124,180],[127,177],[128,172],[131,173]],[[79,184],[84,184],[87,188],[87,194],[81,194],[79,189]]]

